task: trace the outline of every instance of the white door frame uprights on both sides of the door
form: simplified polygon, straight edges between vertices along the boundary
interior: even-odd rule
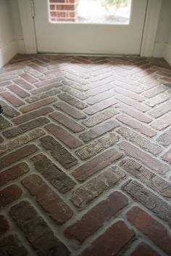
[[[18,0],[26,54],[36,54],[36,30],[34,24],[34,1]],[[162,0],[148,0],[141,41],[141,57],[152,57],[157,35]]]

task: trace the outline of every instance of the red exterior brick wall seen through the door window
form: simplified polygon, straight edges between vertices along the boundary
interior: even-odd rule
[[[49,0],[50,20],[52,22],[78,20],[78,0]]]

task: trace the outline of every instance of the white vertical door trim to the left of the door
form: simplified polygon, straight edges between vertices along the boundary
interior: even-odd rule
[[[18,0],[20,17],[22,23],[22,33],[25,42],[25,53],[36,54],[36,33],[33,20],[33,0]]]

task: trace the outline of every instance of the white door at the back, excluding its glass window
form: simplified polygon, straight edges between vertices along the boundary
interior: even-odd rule
[[[128,24],[54,22],[49,16],[49,1],[34,0],[38,52],[140,54],[147,0],[131,1]]]

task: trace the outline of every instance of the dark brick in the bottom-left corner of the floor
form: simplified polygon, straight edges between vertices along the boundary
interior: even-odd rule
[[[1,256],[26,256],[28,251],[22,246],[17,236],[9,235],[0,240]]]

